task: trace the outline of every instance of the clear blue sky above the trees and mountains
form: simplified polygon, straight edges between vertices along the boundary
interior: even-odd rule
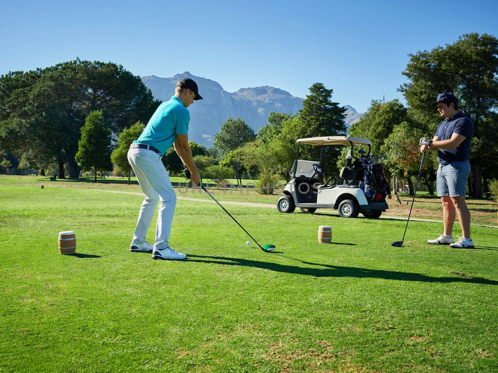
[[[79,57],[135,75],[190,73],[229,92],[305,97],[322,82],[365,111],[402,98],[408,53],[468,32],[498,36],[498,1],[6,1],[0,74]]]

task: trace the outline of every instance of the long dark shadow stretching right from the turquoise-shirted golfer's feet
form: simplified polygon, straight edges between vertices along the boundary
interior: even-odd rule
[[[189,255],[189,259],[187,260],[197,261],[201,263],[213,263],[213,264],[222,264],[222,265],[241,265],[241,266],[256,267],[261,269],[269,269],[276,272],[303,274],[315,277],[384,278],[387,280],[401,280],[401,281],[442,282],[442,283],[467,282],[467,283],[478,283],[486,285],[498,285],[498,281],[488,280],[486,278],[480,278],[480,277],[474,277],[474,278],[432,277],[420,273],[397,272],[397,271],[387,271],[380,269],[359,268],[359,267],[345,267],[340,265],[312,263],[294,258],[290,259],[300,261],[303,264],[319,265],[326,268],[309,268],[309,267],[300,267],[297,265],[278,264],[278,263],[271,263],[259,260],[231,258],[225,256],[192,255],[192,254]]]

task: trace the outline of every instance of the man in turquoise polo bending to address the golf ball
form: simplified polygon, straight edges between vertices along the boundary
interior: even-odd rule
[[[133,141],[128,150],[128,161],[145,194],[130,251],[152,251],[153,259],[185,259],[187,255],[169,247],[171,223],[175,213],[176,194],[169,175],[162,164],[162,155],[174,146],[176,153],[191,172],[190,180],[199,184],[201,179],[192,159],[188,144],[190,113],[187,108],[202,100],[197,84],[192,79],[183,79],[176,85],[171,100],[159,105],[143,132]],[[155,244],[145,241],[158,202]]]

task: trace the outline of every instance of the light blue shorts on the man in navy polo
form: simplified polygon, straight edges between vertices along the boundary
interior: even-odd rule
[[[436,182],[438,197],[465,197],[469,175],[470,163],[468,160],[439,164]]]

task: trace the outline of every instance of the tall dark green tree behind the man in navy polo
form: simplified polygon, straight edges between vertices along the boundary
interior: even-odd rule
[[[436,131],[441,118],[429,104],[438,93],[453,92],[460,100],[460,110],[474,123],[474,142],[487,142],[498,126],[487,120],[495,115],[498,105],[498,39],[492,35],[464,34],[453,44],[431,51],[410,54],[403,71],[408,82],[399,90],[413,111],[412,117],[427,123],[426,137]],[[471,155],[470,193],[482,196],[482,181],[498,167],[495,151],[482,149]]]

